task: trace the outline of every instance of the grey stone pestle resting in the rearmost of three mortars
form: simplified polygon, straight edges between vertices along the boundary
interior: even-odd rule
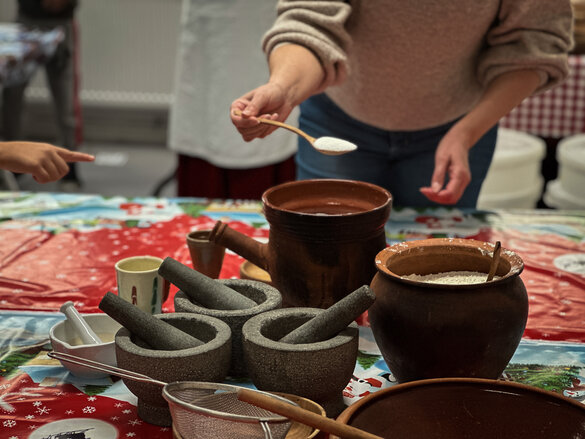
[[[176,285],[189,299],[210,309],[247,309],[258,304],[236,290],[167,257],[158,273]]]

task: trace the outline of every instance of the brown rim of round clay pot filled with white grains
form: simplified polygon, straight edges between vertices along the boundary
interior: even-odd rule
[[[524,270],[524,262],[522,258],[513,250],[502,247],[500,258],[506,260],[510,264],[510,270],[499,279],[477,284],[435,284],[430,282],[420,282],[411,279],[405,279],[401,275],[394,273],[388,268],[388,260],[401,253],[410,252],[413,249],[424,249],[432,247],[451,246],[463,247],[466,249],[477,250],[478,253],[485,254],[486,257],[491,258],[491,253],[494,250],[495,244],[486,241],[479,241],[468,238],[429,238],[415,241],[404,241],[381,250],[375,258],[375,264],[378,272],[383,273],[393,279],[410,285],[424,288],[444,288],[444,289],[469,289],[469,288],[483,288],[486,285],[498,285],[506,282],[512,277],[516,277]],[[486,273],[487,276],[487,273]]]

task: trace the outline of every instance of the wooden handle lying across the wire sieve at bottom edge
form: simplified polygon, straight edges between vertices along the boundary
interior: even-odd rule
[[[309,410],[287,404],[286,402],[279,401],[276,398],[271,398],[270,396],[264,395],[260,392],[255,392],[250,389],[239,389],[238,399],[240,401],[253,404],[257,407],[270,410],[271,412],[281,416],[286,416],[293,421],[300,422],[301,424],[308,425],[313,428],[318,428],[321,431],[334,434],[342,438],[383,439],[382,437],[368,433],[367,431],[363,431],[359,428],[352,427],[351,425],[347,425],[325,416],[318,415],[317,413],[313,413]]]

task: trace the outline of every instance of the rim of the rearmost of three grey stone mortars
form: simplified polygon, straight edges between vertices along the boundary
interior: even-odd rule
[[[261,312],[269,311],[274,309],[276,306],[280,306],[282,304],[282,295],[280,292],[267,283],[251,280],[251,279],[218,279],[221,283],[224,283],[228,286],[231,284],[239,284],[239,285],[250,285],[250,286],[260,286],[258,288],[264,292],[266,292],[266,300],[262,303],[257,304],[251,308],[244,308],[244,309],[212,309],[206,308],[204,306],[197,305],[191,302],[189,296],[187,296],[183,291],[179,290],[175,294],[175,300],[185,301],[183,305],[189,309],[189,311],[183,311],[187,313],[195,313],[195,314],[202,314],[207,316],[212,316],[216,318],[221,317],[246,317],[250,314],[258,314]],[[181,293],[181,294],[179,294]],[[178,295],[178,297],[177,297]],[[191,311],[192,310],[192,311]]]

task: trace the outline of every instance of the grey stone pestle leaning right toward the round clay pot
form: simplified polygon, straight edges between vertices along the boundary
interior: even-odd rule
[[[328,340],[365,312],[376,300],[374,291],[363,285],[282,337],[290,344],[317,343]]]

